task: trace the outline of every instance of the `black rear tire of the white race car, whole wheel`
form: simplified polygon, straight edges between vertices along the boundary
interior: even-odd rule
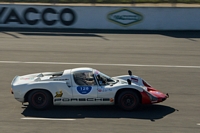
[[[34,90],[28,97],[29,105],[32,108],[43,110],[52,105],[52,96],[44,90]]]

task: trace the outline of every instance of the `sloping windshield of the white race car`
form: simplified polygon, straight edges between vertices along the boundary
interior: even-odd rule
[[[111,77],[109,77],[108,75],[102,73],[102,72],[99,72],[97,70],[94,71],[94,75],[98,81],[98,83],[100,85],[104,84],[110,84],[110,83],[115,83],[116,81],[114,79],[112,79]]]

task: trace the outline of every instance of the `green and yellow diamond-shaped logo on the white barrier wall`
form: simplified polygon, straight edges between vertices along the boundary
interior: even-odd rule
[[[121,26],[130,26],[143,20],[143,16],[140,13],[129,9],[113,11],[107,15],[107,18]]]

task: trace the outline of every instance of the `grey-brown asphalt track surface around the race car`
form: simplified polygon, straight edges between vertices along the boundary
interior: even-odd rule
[[[198,133],[199,51],[199,32],[0,32],[0,132]],[[170,98],[132,112],[115,106],[37,111],[10,94],[15,75],[74,67],[93,67],[110,76],[130,69]]]

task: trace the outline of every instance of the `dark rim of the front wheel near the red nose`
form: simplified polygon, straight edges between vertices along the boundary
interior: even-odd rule
[[[136,104],[136,98],[131,94],[126,94],[121,99],[124,108],[133,108]]]

